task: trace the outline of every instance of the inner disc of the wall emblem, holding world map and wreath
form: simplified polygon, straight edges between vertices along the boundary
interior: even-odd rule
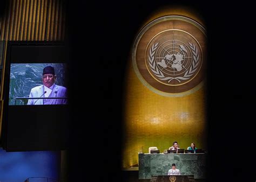
[[[171,86],[182,85],[200,71],[200,45],[190,36],[181,30],[167,30],[149,43],[146,65],[157,81]]]

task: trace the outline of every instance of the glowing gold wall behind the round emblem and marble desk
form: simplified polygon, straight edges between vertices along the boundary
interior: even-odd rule
[[[145,24],[166,15],[191,17],[202,23],[190,12],[192,10],[165,9],[152,15]],[[126,76],[123,167],[137,165],[138,152],[142,150],[147,153],[150,146],[157,146],[163,152],[177,141],[182,149],[187,149],[192,142],[196,143],[197,148],[207,149],[205,84],[190,95],[161,96],[140,82],[131,58]]]

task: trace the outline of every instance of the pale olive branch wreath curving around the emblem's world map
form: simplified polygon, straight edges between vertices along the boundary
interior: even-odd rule
[[[150,48],[150,52],[149,52],[149,65],[151,68],[151,71],[154,73],[154,75],[156,75],[159,80],[168,80],[168,82],[172,81],[172,80],[177,80],[178,82],[181,82],[180,80],[188,80],[191,78],[191,76],[194,74],[194,72],[197,71],[197,67],[199,65],[199,54],[198,54],[198,50],[197,47],[192,43],[188,43],[192,53],[193,53],[193,61],[192,61],[192,65],[190,66],[190,68],[186,71],[186,73],[184,74],[184,76],[178,76],[178,77],[165,77],[163,72],[161,72],[161,70],[157,67],[156,62],[154,61],[154,54],[156,53],[156,49],[158,46],[158,43],[153,44],[152,47]]]

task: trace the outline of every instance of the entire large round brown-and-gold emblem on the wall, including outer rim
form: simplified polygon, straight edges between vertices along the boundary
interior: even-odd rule
[[[153,92],[173,97],[193,93],[205,79],[205,29],[181,16],[153,20],[134,41],[132,62],[139,80]]]

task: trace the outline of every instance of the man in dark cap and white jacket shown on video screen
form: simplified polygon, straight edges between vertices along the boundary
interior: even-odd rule
[[[55,99],[55,97],[67,96],[65,87],[55,85],[56,78],[54,68],[52,66],[46,66],[43,69],[43,85],[32,88],[29,97],[51,97],[51,99],[29,99],[28,105],[67,104],[67,99],[65,98]]]

